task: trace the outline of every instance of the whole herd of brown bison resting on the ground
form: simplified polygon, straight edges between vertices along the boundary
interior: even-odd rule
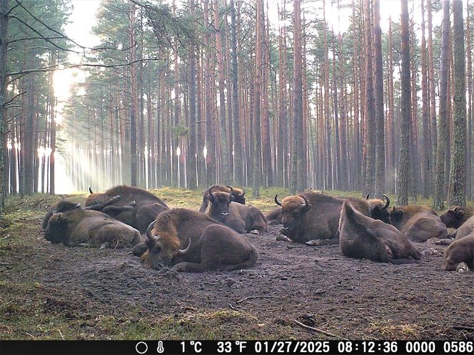
[[[307,190],[275,202],[266,215],[246,205],[245,190],[213,185],[203,192],[199,212],[170,209],[138,187],[120,185],[87,197],[81,207],[61,200],[42,222],[44,237],[68,247],[133,247],[145,267],[181,272],[231,271],[252,267],[257,249],[241,234],[266,232],[281,224],[277,240],[306,245],[338,244],[347,257],[374,262],[418,262],[412,242],[435,242],[445,249],[445,270],[474,268],[474,207],[435,210],[390,200],[333,197]],[[448,227],[455,228],[448,234]]]

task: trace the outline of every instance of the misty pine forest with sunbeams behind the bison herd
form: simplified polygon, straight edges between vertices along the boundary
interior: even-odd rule
[[[86,49],[64,35],[71,6],[2,1],[3,192],[54,193],[57,152],[78,190],[223,182],[465,205],[473,6],[387,2],[101,1],[102,43],[58,123],[52,73]],[[401,8],[387,33],[380,6]]]

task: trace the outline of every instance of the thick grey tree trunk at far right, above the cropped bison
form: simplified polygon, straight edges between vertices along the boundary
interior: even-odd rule
[[[455,95],[453,102],[453,140],[451,148],[450,205],[465,205],[465,48],[463,1],[453,1],[453,56]]]

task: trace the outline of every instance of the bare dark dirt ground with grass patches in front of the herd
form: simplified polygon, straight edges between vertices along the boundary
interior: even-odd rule
[[[474,339],[474,272],[443,271],[442,246],[383,264],[278,242],[277,225],[243,235],[251,269],[192,274],[145,269],[130,249],[51,245],[34,223],[32,243],[0,254],[4,339]]]

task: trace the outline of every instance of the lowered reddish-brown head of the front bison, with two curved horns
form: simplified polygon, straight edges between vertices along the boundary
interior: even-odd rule
[[[178,237],[169,235],[168,233],[158,234],[154,225],[156,220],[148,225],[146,229],[146,247],[148,250],[141,255],[141,262],[146,267],[152,269],[161,269],[172,264],[174,257],[185,255],[191,248],[191,238],[189,238],[188,246],[180,249]]]

